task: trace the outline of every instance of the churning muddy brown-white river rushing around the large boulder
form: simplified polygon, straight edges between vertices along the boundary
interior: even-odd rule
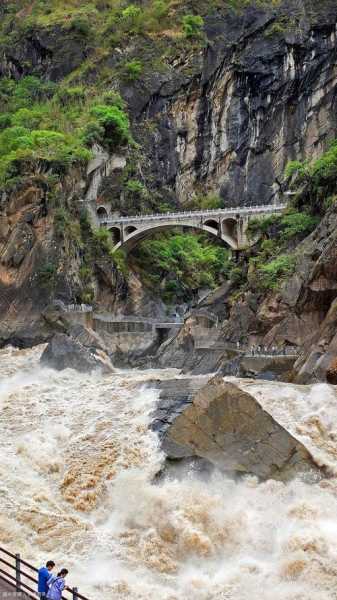
[[[186,471],[154,483],[163,456],[147,382],[176,373],[57,373],[40,353],[0,351],[0,545],[68,567],[93,600],[337,599],[334,388],[246,384],[329,479]]]

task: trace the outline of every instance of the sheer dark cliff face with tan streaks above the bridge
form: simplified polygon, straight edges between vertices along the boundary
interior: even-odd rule
[[[146,103],[134,97],[139,115],[159,122],[158,185],[181,203],[196,192],[236,206],[282,194],[287,162],[318,156],[336,136],[336,19],[332,2],[305,1],[206,19],[205,51]]]

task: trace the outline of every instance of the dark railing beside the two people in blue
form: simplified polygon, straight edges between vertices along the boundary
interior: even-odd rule
[[[27,573],[27,570],[30,572]],[[13,588],[13,592],[31,598],[31,600],[36,600],[39,598],[37,572],[38,569],[23,560],[20,554],[12,554],[12,552],[0,546],[0,591],[1,583],[4,582],[7,586]],[[32,583],[29,585],[29,583],[26,583],[27,580]],[[32,584],[34,584],[34,587],[32,587]],[[67,587],[65,590],[66,593],[70,594],[70,597],[69,595],[62,596],[62,600],[70,600],[70,598],[72,600],[88,600],[86,596],[79,593],[77,587]]]

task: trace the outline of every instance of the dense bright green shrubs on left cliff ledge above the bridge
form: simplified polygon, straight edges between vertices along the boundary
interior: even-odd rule
[[[35,76],[0,80],[0,185],[43,173],[64,175],[84,165],[90,146],[132,141],[118,94],[45,83]]]

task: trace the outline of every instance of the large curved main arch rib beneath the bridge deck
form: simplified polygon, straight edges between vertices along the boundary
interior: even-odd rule
[[[206,224],[196,225],[196,224],[191,224],[191,223],[188,223],[185,221],[177,221],[177,222],[172,221],[170,223],[162,223],[162,224],[156,223],[155,225],[153,224],[153,225],[149,225],[147,227],[134,228],[134,231],[132,231],[130,234],[127,234],[126,229],[124,229],[123,240],[120,239],[116,243],[114,250],[118,250],[119,248],[125,248],[126,250],[132,250],[135,246],[137,246],[137,244],[139,244],[139,242],[151,237],[153,234],[161,232],[161,231],[169,231],[171,229],[175,229],[178,227],[179,228],[186,227],[189,229],[204,231],[205,233],[211,234],[213,237],[217,238],[218,240],[222,240],[222,242],[226,243],[231,248],[237,249],[237,242],[234,237],[230,237],[229,235],[226,235],[226,234],[220,235],[219,231],[214,229],[214,227],[209,227]]]

